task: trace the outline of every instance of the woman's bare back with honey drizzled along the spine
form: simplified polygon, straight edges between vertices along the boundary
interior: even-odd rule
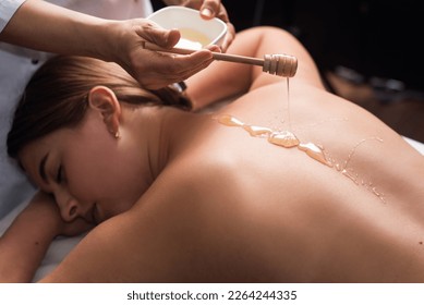
[[[237,281],[423,281],[423,157],[346,100],[295,81],[290,98],[283,82],[252,91],[193,141],[196,191],[178,202],[210,224],[204,264],[227,256]]]

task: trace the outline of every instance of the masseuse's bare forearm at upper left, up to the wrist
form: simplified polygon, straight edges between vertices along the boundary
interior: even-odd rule
[[[107,60],[108,23],[113,22],[46,1],[27,0],[0,34],[0,40],[40,51]]]

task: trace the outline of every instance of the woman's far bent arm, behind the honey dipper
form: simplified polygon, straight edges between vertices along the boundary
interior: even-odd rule
[[[227,53],[261,58],[265,54],[286,53],[298,58],[295,81],[323,87],[319,72],[307,50],[290,33],[269,26],[253,27],[237,34]],[[216,61],[186,81],[187,95],[194,110],[210,102],[240,95],[272,82],[286,82],[284,77],[270,75],[262,66]]]

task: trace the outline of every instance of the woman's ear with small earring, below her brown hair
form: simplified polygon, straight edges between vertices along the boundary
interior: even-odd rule
[[[119,133],[121,105],[114,93],[105,86],[93,87],[88,93],[88,107],[98,111],[109,132]]]

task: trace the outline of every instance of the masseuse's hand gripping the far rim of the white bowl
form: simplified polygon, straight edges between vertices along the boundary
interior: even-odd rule
[[[232,40],[235,37],[235,29],[230,19],[228,17],[227,10],[222,5],[220,0],[163,0],[165,3],[169,5],[180,4],[187,8],[192,8],[201,11],[201,16],[205,20],[210,20],[213,17],[218,17],[227,24],[228,30],[227,35],[223,38],[221,50],[227,51],[228,47],[231,45]]]

